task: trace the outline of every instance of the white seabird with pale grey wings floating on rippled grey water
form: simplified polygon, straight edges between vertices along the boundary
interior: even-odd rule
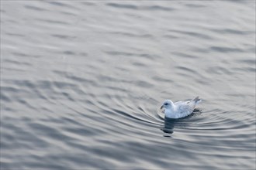
[[[199,104],[202,100],[199,97],[189,101],[177,101],[173,103],[171,100],[164,100],[161,109],[164,108],[163,113],[165,117],[177,119],[181,117],[186,117],[191,114],[195,108],[196,104]]]

